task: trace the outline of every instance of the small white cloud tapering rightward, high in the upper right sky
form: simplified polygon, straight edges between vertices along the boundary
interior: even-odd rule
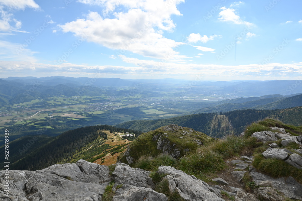
[[[247,27],[255,26],[255,24],[253,24],[253,23],[243,21],[239,17],[239,15],[235,14],[235,9],[233,9],[233,8],[221,7],[220,9],[222,9],[222,11],[220,11],[220,13],[219,13],[220,18],[218,18],[220,21],[232,22],[234,24],[243,24]]]

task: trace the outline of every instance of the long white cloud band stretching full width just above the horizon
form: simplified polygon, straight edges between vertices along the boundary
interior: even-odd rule
[[[155,62],[154,60],[138,60],[136,58],[121,58],[133,66],[91,66],[84,64],[62,63],[60,65],[43,64],[24,61],[1,61],[1,77],[3,76],[24,76],[24,73],[31,75],[60,75],[74,77],[133,77],[142,79],[142,77],[194,77],[202,75],[204,77],[213,77],[216,80],[224,77],[225,79],[284,79],[297,77],[302,73],[302,62],[294,64],[269,63],[263,66],[259,64],[250,65],[214,65],[214,64],[195,64],[195,63],[172,63]],[[152,73],[150,73],[152,72]],[[218,76],[219,75],[219,76]],[[218,77],[217,77],[218,76]]]

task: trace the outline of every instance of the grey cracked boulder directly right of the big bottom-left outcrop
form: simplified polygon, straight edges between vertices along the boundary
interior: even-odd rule
[[[132,168],[126,164],[118,164],[112,176],[115,183],[129,184],[137,187],[154,188],[150,172],[140,168]]]

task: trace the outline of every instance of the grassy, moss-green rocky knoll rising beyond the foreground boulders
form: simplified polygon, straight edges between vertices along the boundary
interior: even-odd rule
[[[133,164],[141,156],[156,157],[160,154],[170,155],[177,159],[186,152],[213,140],[191,128],[171,124],[141,134],[127,147],[127,151],[119,156],[118,162]]]

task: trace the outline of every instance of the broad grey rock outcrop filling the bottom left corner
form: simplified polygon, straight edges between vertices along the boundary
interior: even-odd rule
[[[81,168],[82,170],[81,170]],[[9,197],[5,196],[5,171],[0,171],[0,200],[57,201],[101,200],[108,180],[106,166],[79,160],[38,171],[9,171]]]

